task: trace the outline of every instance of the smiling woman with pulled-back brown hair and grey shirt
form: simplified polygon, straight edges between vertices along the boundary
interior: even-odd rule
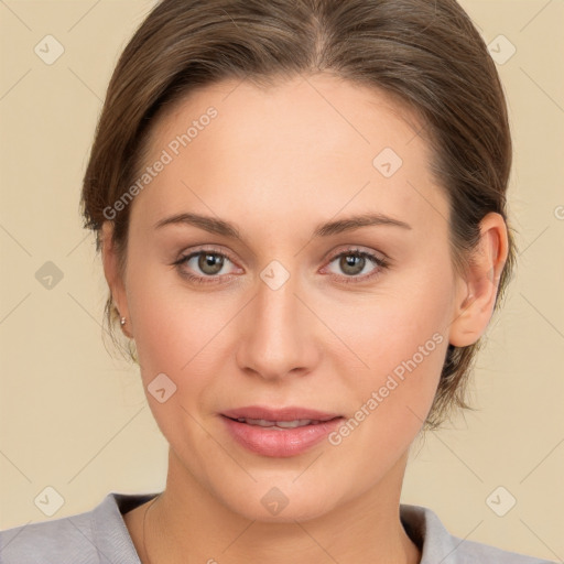
[[[4,531],[2,562],[542,562],[400,505],[511,272],[510,165],[454,0],[162,1],[83,206],[166,488]]]

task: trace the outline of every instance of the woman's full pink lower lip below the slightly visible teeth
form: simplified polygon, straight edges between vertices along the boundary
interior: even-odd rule
[[[221,415],[231,436],[242,446],[263,456],[288,457],[304,453],[335,431],[343,417],[294,429],[249,425]]]

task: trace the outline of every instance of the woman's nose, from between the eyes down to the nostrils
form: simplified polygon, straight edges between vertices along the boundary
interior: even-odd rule
[[[238,366],[269,380],[305,376],[319,362],[322,324],[304,296],[296,295],[293,275],[273,288],[260,279],[257,295],[239,317]]]

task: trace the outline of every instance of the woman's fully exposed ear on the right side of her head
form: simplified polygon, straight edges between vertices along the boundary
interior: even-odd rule
[[[486,332],[508,256],[507,225],[501,215],[489,213],[480,221],[480,240],[468,267],[457,276],[456,307],[449,343],[466,347]]]

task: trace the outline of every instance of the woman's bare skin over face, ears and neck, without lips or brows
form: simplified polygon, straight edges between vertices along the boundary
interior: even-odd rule
[[[447,199],[415,116],[378,90],[323,74],[193,93],[153,127],[147,164],[209,106],[218,117],[131,204],[123,273],[111,223],[102,229],[106,278],[145,391],[161,372],[177,387],[164,403],[147,392],[170,456],[166,488],[147,516],[149,556],[147,505],[123,516],[140,558],[416,563],[399,519],[409,448],[448,343],[475,343],[490,319],[507,258],[503,219],[484,218],[473,265],[457,273]],[[372,165],[387,147],[403,160],[389,178]],[[186,212],[236,224],[243,241],[191,225],[154,228]],[[411,228],[312,238],[318,224],[368,212]],[[173,265],[203,246],[229,257],[212,274],[219,283],[182,276],[209,278],[197,257]],[[384,253],[389,268],[367,260],[354,275],[378,274],[345,283],[352,276],[335,257],[350,246]],[[290,273],[275,291],[260,278],[272,260]],[[442,343],[338,446],[260,456],[234,442],[219,416],[264,404],[349,419],[434,334]],[[272,487],[289,500],[278,516],[261,503]]]

